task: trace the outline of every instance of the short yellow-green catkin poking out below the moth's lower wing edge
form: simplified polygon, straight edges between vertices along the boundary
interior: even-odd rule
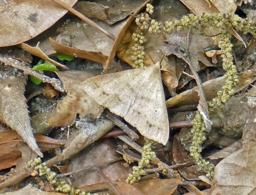
[[[145,144],[143,146],[144,151],[141,154],[141,161],[138,163],[138,166],[133,166],[133,172],[132,174],[129,174],[128,178],[126,179],[126,183],[134,184],[138,182],[142,175],[145,175],[145,171],[143,170],[143,167],[150,166],[150,159],[153,157],[156,157],[155,152],[152,151],[151,146],[154,144],[153,140],[150,140],[148,138],[145,139]]]

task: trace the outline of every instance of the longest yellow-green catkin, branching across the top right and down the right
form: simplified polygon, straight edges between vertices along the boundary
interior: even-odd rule
[[[138,25],[137,34],[141,34],[143,30],[148,29],[148,32],[152,33],[173,33],[180,32],[186,28],[198,28],[208,26],[209,24],[213,27],[220,28],[222,30],[220,34],[219,48],[221,49],[222,67],[226,71],[225,78],[226,83],[222,86],[222,90],[217,93],[217,97],[213,98],[212,101],[208,102],[209,112],[212,112],[215,107],[222,107],[223,103],[227,102],[231,95],[234,94],[234,87],[238,83],[236,67],[233,64],[232,47],[230,42],[232,35],[226,31],[228,28],[234,28],[243,34],[251,33],[256,38],[256,23],[248,18],[241,18],[235,14],[203,14],[202,16],[195,16],[194,14],[188,14],[182,16],[180,20],[174,19],[173,21],[159,22],[149,17],[148,14],[152,14],[154,7],[151,4],[146,5],[146,12],[139,14],[135,20]],[[135,37],[135,35],[134,35]],[[139,37],[138,37],[139,38]],[[141,45],[146,41],[138,41],[136,39],[136,47],[143,48]],[[142,53],[144,54],[144,53]],[[135,60],[140,59],[140,66],[143,66],[143,55],[137,57]],[[138,62],[136,62],[138,64]],[[205,125],[199,112],[196,113],[193,119],[193,127],[191,129],[192,146],[190,147],[190,156],[196,161],[198,166],[202,167],[202,171],[212,179],[214,165],[210,162],[205,161],[201,157],[201,145],[206,140]]]

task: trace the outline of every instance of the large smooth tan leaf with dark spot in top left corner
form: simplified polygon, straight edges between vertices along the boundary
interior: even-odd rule
[[[73,6],[77,0],[62,0]],[[0,1],[0,47],[25,42],[51,27],[68,10],[47,0]]]

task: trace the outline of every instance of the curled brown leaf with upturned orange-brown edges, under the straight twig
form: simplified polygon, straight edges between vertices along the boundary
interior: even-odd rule
[[[141,10],[142,7],[145,6],[145,0],[136,1],[135,5],[137,6],[132,7],[130,10],[131,12],[138,12]],[[128,19],[117,22],[113,25],[95,20],[95,22],[103,29],[106,29],[108,32],[117,37],[116,40],[113,41],[101,31],[95,29],[94,27],[88,25],[78,18],[74,18],[71,19],[71,22],[65,22],[64,25],[61,25],[58,29],[60,33],[65,32],[66,35],[73,37],[70,43],[73,49],[66,45],[56,44],[52,41],[51,42],[54,43],[54,48],[59,53],[67,53],[82,58],[87,58],[88,56],[90,57],[89,59],[98,62],[98,58],[100,56],[100,63],[103,64],[105,72],[114,58],[116,47],[119,44],[121,37],[123,36],[125,30],[132,22],[132,20],[133,18],[129,17]],[[83,51],[85,51],[84,54]],[[93,55],[93,53],[95,54]]]

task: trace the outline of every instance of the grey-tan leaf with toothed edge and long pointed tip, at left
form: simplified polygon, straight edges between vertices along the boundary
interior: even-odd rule
[[[28,116],[24,97],[26,78],[16,70],[8,68],[0,77],[0,120],[15,130],[33,151],[43,157]]]

